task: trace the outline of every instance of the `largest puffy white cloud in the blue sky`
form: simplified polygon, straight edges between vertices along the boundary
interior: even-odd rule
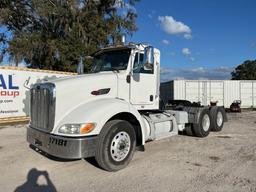
[[[191,29],[189,26],[185,25],[180,21],[176,21],[172,16],[159,16],[158,20],[160,21],[160,25],[162,29],[171,35],[191,33]]]

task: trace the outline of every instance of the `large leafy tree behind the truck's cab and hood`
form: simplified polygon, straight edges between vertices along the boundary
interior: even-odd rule
[[[138,0],[1,0],[1,55],[16,65],[75,71],[85,57],[137,30]],[[88,67],[87,67],[88,70]]]

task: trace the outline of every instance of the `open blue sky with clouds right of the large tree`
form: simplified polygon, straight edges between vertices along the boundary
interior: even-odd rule
[[[161,51],[161,80],[230,79],[256,59],[255,0],[141,0],[129,41]]]

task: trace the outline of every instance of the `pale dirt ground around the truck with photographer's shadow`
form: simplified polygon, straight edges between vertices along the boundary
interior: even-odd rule
[[[26,126],[0,127],[0,191],[256,192],[256,112],[229,114],[207,138],[150,142],[115,173],[93,159],[56,161],[29,148]]]

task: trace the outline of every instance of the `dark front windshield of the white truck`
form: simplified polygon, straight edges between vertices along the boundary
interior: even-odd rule
[[[125,70],[128,65],[131,49],[111,50],[94,56],[92,73],[100,71]]]

